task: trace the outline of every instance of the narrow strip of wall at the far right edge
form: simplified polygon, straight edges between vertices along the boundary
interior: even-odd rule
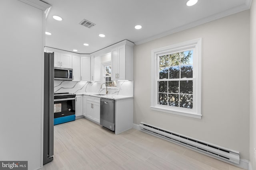
[[[250,163],[252,170],[256,170],[256,1],[252,1],[250,8]]]

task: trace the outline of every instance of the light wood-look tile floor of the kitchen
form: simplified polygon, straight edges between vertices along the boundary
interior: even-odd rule
[[[119,135],[87,119],[54,126],[42,170],[243,170],[136,129]]]

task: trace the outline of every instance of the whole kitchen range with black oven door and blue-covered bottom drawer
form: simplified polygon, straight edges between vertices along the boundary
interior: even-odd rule
[[[73,93],[54,93],[54,125],[76,119],[75,98]]]

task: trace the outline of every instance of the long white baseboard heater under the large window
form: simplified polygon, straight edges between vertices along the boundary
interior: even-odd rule
[[[190,147],[194,150],[198,150],[204,154],[209,156],[214,156],[219,160],[226,160],[230,162],[234,162],[239,164],[240,156],[238,151],[226,149],[223,147],[219,147],[217,145],[212,145],[210,143],[206,143],[204,141],[198,141],[196,139],[192,139],[190,137],[186,137],[177,133],[173,133],[171,131],[166,131],[159,127],[154,127],[152,125],[148,125],[146,123],[140,122],[140,129],[146,131],[147,133],[152,133],[159,137],[166,139],[167,141],[175,142],[180,145],[184,145],[186,147]],[[225,161],[225,162],[226,162]]]

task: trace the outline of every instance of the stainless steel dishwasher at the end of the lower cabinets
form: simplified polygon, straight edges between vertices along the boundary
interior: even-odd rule
[[[100,99],[100,125],[115,131],[115,100]]]

